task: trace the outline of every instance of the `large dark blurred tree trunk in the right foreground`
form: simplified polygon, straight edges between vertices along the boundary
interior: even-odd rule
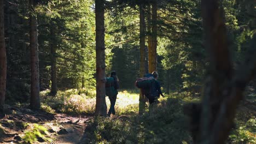
[[[219,7],[219,3],[220,2],[216,0],[202,0],[203,28],[206,34],[206,48],[211,64],[211,70],[209,70],[210,80],[208,82],[211,84],[206,87],[207,90],[205,90],[202,100],[203,111],[200,128],[201,132],[204,131],[205,133],[201,133],[201,137],[199,138],[201,141],[211,139],[210,135],[213,130],[213,122],[216,121],[220,104],[225,97],[228,97],[227,94],[231,91],[226,82],[231,81],[232,66],[224,15]],[[208,91],[212,91],[212,93]],[[224,94],[224,91],[226,91],[226,94]],[[214,139],[217,140],[219,138],[220,137],[215,137]],[[217,141],[217,143],[224,143],[223,140]]]

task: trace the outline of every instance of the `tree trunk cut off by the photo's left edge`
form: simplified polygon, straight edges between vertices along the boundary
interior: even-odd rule
[[[0,0],[0,114],[3,113],[6,88],[6,50],[4,42],[4,0]]]

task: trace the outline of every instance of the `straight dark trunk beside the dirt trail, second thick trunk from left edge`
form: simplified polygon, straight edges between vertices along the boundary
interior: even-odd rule
[[[31,109],[40,109],[39,97],[39,59],[38,59],[38,35],[37,35],[37,17],[33,9],[34,1],[30,0],[30,49],[31,49]]]

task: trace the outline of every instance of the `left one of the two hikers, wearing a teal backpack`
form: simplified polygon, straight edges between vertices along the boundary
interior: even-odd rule
[[[117,94],[118,94],[117,89],[119,88],[119,84],[118,84],[119,79],[115,71],[111,72],[110,78],[113,78],[113,81],[110,84],[110,89],[111,89],[110,91],[113,91],[113,92],[107,95],[108,89],[106,89],[106,95],[110,100],[110,108],[108,111],[108,116],[110,116],[111,113],[115,115],[115,101],[117,100]]]

